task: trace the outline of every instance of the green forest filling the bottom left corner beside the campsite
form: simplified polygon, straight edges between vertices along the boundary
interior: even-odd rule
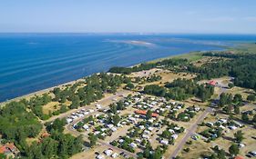
[[[81,137],[63,134],[62,122],[56,120],[52,128],[48,129],[49,136],[39,137],[38,141],[27,144],[27,138],[37,138],[43,125],[35,114],[27,111],[24,100],[6,104],[0,110],[0,134],[2,143],[14,142],[20,151],[21,158],[68,158],[81,151],[83,142]]]

